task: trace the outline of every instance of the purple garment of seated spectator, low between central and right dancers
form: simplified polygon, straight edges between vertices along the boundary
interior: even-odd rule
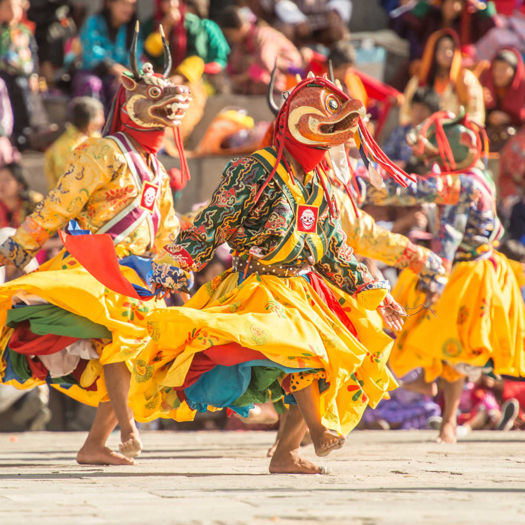
[[[413,370],[402,379],[407,383],[414,381],[419,372],[421,369]],[[401,430],[421,430],[428,428],[429,417],[441,415],[441,408],[431,397],[408,392],[401,386],[390,392],[390,397],[380,401],[376,408],[366,407],[363,421],[370,425],[378,419],[384,419],[390,425],[401,424]]]

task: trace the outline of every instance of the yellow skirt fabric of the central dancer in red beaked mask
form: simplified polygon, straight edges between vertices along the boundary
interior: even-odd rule
[[[321,394],[321,420],[341,434],[359,422],[367,405],[375,407],[397,386],[385,366],[392,340],[348,295],[331,287],[357,337],[303,277],[254,274],[238,281],[239,274],[228,270],[183,307],[148,314],[151,342],[137,358],[130,390],[139,421],[193,419],[195,411],[174,387],[185,384],[198,352],[228,343],[286,367],[324,369],[329,386]]]

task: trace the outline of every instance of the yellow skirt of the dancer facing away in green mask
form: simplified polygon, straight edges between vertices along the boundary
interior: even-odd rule
[[[404,270],[393,291],[402,306],[424,302],[417,277]],[[398,375],[423,367],[427,381],[460,374],[452,365],[484,366],[492,359],[497,374],[525,374],[525,308],[514,272],[505,256],[454,265],[443,296],[434,308],[409,318],[392,349],[390,366]]]

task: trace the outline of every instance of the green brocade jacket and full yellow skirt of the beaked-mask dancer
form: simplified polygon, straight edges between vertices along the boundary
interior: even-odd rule
[[[272,162],[271,148],[230,162],[193,226],[155,258],[153,280],[180,282],[225,241],[248,265],[297,269],[311,256],[315,271],[278,277],[228,270],[184,307],[148,314],[151,342],[135,362],[130,389],[139,421],[184,421],[197,410],[225,406],[246,415],[251,404],[268,400],[268,391],[293,393],[291,373],[322,370],[322,423],[346,434],[367,405],[376,406],[396,386],[385,366],[392,341],[368,311],[388,284],[374,281],[352,256],[339,214],[330,215],[312,173],[303,186],[280,164],[254,207]],[[316,211],[315,227],[301,222],[305,208]]]

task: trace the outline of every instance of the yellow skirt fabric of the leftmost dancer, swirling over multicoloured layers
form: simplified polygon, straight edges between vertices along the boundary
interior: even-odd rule
[[[111,340],[100,346],[99,359],[91,360],[81,376],[81,385],[86,387],[97,380],[97,391],[86,391],[78,385],[62,388],[53,385],[70,397],[91,406],[108,401],[102,366],[125,361],[130,370],[139,352],[148,343],[146,314],[157,307],[165,307],[164,301],[140,301],[118,295],[93,278],[71,256],[64,257],[65,250],[41,265],[38,270],[0,285],[0,380],[4,376],[6,361],[4,352],[12,330],[5,327],[7,310],[12,307],[12,297],[20,290],[35,294],[45,301],[76,313],[79,316],[102,324],[111,332]],[[123,275],[132,283],[144,286],[137,273],[121,266]],[[20,384],[16,380],[6,381],[17,388],[32,388],[44,381],[30,379]]]

